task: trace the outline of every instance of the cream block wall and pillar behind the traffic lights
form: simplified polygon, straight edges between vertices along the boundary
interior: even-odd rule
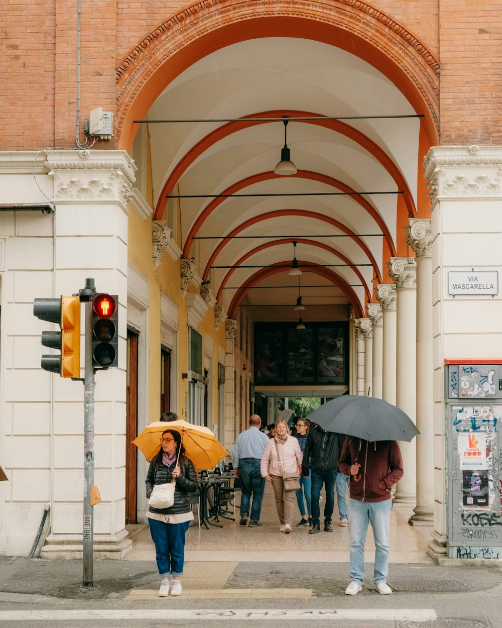
[[[33,300],[72,295],[87,277],[95,278],[98,291],[119,294],[119,368],[96,374],[94,484],[102,503],[94,507],[94,532],[115,538],[124,529],[125,203],[119,187],[103,188],[105,199],[97,192],[82,197],[79,190],[68,197],[61,192],[65,177],[72,178],[77,166],[82,185],[86,176],[104,184],[114,177],[120,180],[119,170],[131,176],[129,158],[104,153],[103,159],[95,151],[91,166],[82,166],[76,151],[44,155],[44,160],[53,160],[55,178],[47,175],[47,166],[37,165],[37,179],[46,195],[55,198],[55,213],[0,215],[0,465],[9,478],[0,485],[0,554],[28,555],[46,503],[51,506],[53,543],[82,534],[83,384],[42,371],[41,355],[51,350],[42,347],[41,332],[58,327],[33,316]],[[0,166],[4,202],[41,202],[31,169],[24,172],[15,156],[6,160],[2,153]],[[81,348],[83,354],[83,337]]]

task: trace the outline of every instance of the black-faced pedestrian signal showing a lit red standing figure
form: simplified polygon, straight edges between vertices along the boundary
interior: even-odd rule
[[[92,365],[104,369],[119,365],[118,295],[93,296]]]

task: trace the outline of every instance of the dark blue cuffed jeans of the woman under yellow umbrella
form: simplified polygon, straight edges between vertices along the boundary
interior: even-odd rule
[[[182,576],[184,564],[184,539],[190,521],[164,523],[148,519],[150,534],[155,543],[155,558],[161,578]]]

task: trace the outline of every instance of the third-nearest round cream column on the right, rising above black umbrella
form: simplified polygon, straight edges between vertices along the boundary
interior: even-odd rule
[[[396,403],[396,345],[397,313],[396,289],[393,283],[379,283],[376,298],[382,305],[382,399],[395,406]]]

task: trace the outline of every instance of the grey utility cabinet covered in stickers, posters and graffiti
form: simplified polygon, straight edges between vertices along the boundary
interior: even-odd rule
[[[502,558],[502,362],[445,361],[449,558]]]

